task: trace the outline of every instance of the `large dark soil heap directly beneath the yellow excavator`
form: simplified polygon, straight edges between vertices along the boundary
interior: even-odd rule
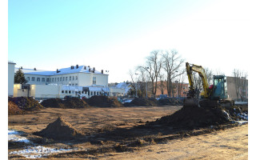
[[[164,116],[155,123],[178,128],[198,128],[230,122],[230,114],[221,106],[214,108],[182,107],[174,114]]]

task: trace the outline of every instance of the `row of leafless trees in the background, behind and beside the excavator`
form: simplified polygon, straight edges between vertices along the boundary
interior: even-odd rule
[[[207,67],[203,68],[208,84],[213,83],[213,75],[224,75],[220,70],[213,71]],[[147,94],[150,94],[155,97],[157,90],[160,90],[161,94],[167,90],[169,97],[174,97],[175,94],[180,96],[182,84],[187,79],[185,58],[182,58],[177,50],[153,50],[146,57],[146,62],[136,66],[134,70],[130,70],[129,74],[132,86],[131,95],[137,93],[138,97],[146,97]],[[237,98],[241,98],[242,94],[239,90],[244,90],[248,84],[240,79],[247,78],[247,74],[242,70],[234,69],[232,76],[235,81]],[[196,72],[193,73],[193,78],[196,97],[199,98],[202,91],[202,78]]]

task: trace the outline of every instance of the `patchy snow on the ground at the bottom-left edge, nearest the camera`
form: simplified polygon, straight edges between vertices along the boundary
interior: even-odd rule
[[[9,154],[18,154],[26,158],[43,158],[49,154],[62,153],[77,149],[57,149],[44,146],[27,146],[24,150],[12,151]]]

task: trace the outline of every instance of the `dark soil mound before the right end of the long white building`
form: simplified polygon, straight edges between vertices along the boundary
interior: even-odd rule
[[[122,103],[118,102],[117,98],[109,98],[106,96],[93,96],[89,99],[86,99],[86,102],[89,103],[90,106],[99,106],[99,107],[122,107]]]

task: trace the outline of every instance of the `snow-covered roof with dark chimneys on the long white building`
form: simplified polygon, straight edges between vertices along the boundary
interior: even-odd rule
[[[15,68],[15,72],[19,68]],[[90,69],[90,71],[89,71]],[[62,68],[55,71],[50,71],[50,70],[34,70],[34,69],[24,69],[22,68],[22,71],[24,74],[33,74],[33,75],[45,75],[45,76],[52,76],[52,75],[62,75],[62,74],[74,74],[74,73],[93,73],[93,68],[90,68],[88,66],[74,66],[74,69],[71,69],[71,67],[68,68]],[[94,70],[94,74],[102,74],[102,72],[98,70]]]

